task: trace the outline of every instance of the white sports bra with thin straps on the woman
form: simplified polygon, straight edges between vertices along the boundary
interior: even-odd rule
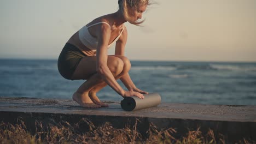
[[[100,24],[100,23],[105,23],[106,25],[109,26],[109,24],[108,24],[107,22],[103,22],[103,21],[102,21],[102,22],[94,23],[94,24],[91,25],[91,26],[95,26],[95,25],[98,25],[98,24]],[[88,28],[91,27],[91,26],[84,26],[84,27],[80,28],[79,31],[78,31],[78,35],[79,35],[80,41],[81,41],[86,47],[88,47],[88,48],[91,49],[92,51],[96,51],[97,45],[98,45],[98,40],[97,40],[97,38],[92,37],[92,35],[91,35],[91,34],[89,33],[89,31],[88,31]],[[110,26],[109,26],[109,27],[110,27]],[[124,28],[122,29],[122,31],[121,31],[121,33],[118,35],[118,37],[115,38],[114,41],[113,41],[110,45],[108,45],[108,49],[109,49],[109,47],[110,47],[115,41],[117,41],[117,40],[120,38],[120,36],[121,36],[121,34],[123,33],[123,31],[124,31]]]

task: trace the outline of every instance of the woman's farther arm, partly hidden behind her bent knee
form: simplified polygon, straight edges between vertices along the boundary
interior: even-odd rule
[[[126,42],[127,42],[127,29],[125,27],[121,37],[115,44],[115,55],[124,56]],[[148,92],[144,92],[141,89],[136,88],[135,84],[131,80],[129,73],[123,75],[120,78],[120,80],[124,83],[125,87],[129,91],[135,91],[135,92],[139,92],[139,93],[143,93],[143,94],[148,94]]]

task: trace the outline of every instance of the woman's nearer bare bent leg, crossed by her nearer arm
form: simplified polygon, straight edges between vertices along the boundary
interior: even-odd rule
[[[107,65],[114,76],[119,75],[121,71],[123,71],[124,67],[123,61],[120,58],[114,56],[108,56]],[[89,91],[99,83],[103,82],[101,76],[96,71],[96,56],[82,58],[78,64],[77,69],[74,71],[72,79],[87,79],[73,94],[73,100],[77,101],[77,103],[83,107],[100,107],[100,105],[96,105],[94,103],[95,100],[92,101],[89,97]]]

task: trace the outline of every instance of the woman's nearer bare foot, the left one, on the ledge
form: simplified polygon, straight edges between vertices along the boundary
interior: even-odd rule
[[[87,108],[101,107],[100,105],[96,105],[94,102],[92,102],[88,94],[80,94],[75,92],[72,98],[74,101],[77,101],[77,103],[82,107],[87,107]]]

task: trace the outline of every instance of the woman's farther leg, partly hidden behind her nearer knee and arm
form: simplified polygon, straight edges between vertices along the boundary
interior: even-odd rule
[[[115,79],[118,80],[120,79],[121,76],[123,76],[124,74],[128,73],[130,68],[131,68],[131,63],[129,61],[129,59],[127,57],[124,57],[124,56],[119,56],[119,55],[113,55],[114,57],[118,57],[120,58],[123,63],[124,63],[124,68],[123,70],[121,71],[121,73],[118,75],[118,76],[115,76]],[[98,99],[96,93],[98,91],[100,91],[103,87],[106,87],[107,86],[107,83],[106,82],[101,82],[101,83],[98,83],[98,85],[96,85],[94,88],[92,88],[89,92],[89,97],[91,98],[91,100],[95,103],[95,104],[98,104],[98,105],[101,105],[101,106],[108,106],[104,103],[102,103],[100,101],[100,99]]]

